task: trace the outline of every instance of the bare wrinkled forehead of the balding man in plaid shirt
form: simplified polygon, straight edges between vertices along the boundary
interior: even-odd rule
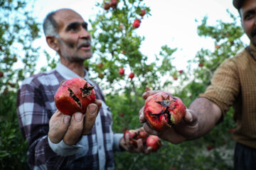
[[[70,9],[60,9],[56,11],[54,18],[56,23],[58,24],[59,30],[65,28],[65,26],[68,26],[68,24],[70,23],[85,22],[80,14]]]

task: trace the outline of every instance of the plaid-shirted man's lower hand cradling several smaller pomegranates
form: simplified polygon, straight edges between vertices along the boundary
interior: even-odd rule
[[[141,128],[137,129],[139,131]],[[146,147],[146,144],[143,144],[142,139],[137,140],[137,147],[132,145],[129,140],[129,134],[127,133],[119,142],[119,146],[122,147],[124,150],[130,153],[143,153],[149,154],[153,152],[152,147]]]

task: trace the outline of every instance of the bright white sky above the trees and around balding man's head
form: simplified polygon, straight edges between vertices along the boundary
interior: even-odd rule
[[[43,23],[48,12],[58,8],[72,8],[88,21],[98,11],[96,2],[102,0],[36,0],[34,16],[39,23]],[[174,65],[177,69],[186,69],[186,61],[193,59],[198,50],[202,47],[214,50],[215,47],[213,40],[200,38],[197,34],[197,26],[203,17],[208,16],[208,24],[213,26],[218,20],[232,21],[227,9],[238,16],[238,11],[233,7],[232,2],[233,0],[144,0],[144,4],[151,8],[151,16],[144,17],[140,27],[135,30],[137,35],[145,38],[140,49],[142,54],[148,56],[149,62],[154,62],[154,56],[159,55],[161,46],[177,48],[173,54],[176,57]],[[46,64],[43,50],[55,55],[46,44],[42,28],[41,35],[36,41],[42,51],[38,67]],[[242,40],[248,42],[246,36],[244,37]]]

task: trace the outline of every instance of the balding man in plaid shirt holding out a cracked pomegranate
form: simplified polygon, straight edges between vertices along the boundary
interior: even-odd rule
[[[112,113],[83,65],[92,57],[92,50],[82,17],[62,8],[46,16],[43,30],[60,63],[50,72],[24,80],[18,91],[18,120],[29,145],[28,168],[114,169],[114,151],[151,152],[142,140],[135,148],[127,137],[112,132]],[[55,106],[54,95],[61,81],[75,77],[95,86],[97,100],[85,114],[63,115]]]

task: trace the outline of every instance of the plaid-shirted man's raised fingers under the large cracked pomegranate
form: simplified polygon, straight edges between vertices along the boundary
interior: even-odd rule
[[[58,143],[63,140],[66,145],[75,145],[82,135],[91,132],[101,105],[101,101],[96,100],[95,103],[87,106],[85,114],[75,113],[72,116],[56,111],[50,118],[48,132],[50,141]]]

